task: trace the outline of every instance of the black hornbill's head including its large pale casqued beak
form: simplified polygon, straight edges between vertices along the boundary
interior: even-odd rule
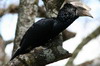
[[[92,15],[89,13],[91,9],[81,3],[81,2],[70,2],[66,3],[59,11],[58,18],[61,19],[73,19],[78,18],[80,16],[89,16],[92,17]],[[93,17],[92,17],[93,18]]]

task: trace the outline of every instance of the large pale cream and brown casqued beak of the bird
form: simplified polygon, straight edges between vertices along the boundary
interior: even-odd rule
[[[89,8],[87,5],[83,4],[82,2],[70,2],[70,3],[77,8],[76,13],[79,16],[89,16],[93,18],[93,16],[89,13],[91,8]]]

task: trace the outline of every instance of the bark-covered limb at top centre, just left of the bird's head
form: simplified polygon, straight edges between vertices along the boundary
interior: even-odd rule
[[[48,17],[56,17],[64,0],[43,0]]]

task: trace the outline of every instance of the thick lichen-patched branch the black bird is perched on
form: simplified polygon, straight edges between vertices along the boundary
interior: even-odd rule
[[[68,58],[71,54],[62,48],[62,36],[50,42],[48,48],[38,47],[28,54],[20,55],[6,66],[45,66],[46,64]]]

